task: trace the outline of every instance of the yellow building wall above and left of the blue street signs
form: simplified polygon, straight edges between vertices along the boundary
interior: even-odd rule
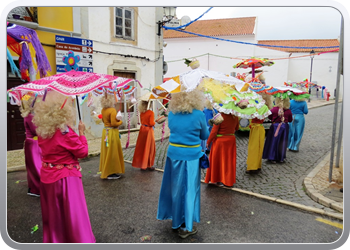
[[[38,7],[38,24],[40,27],[54,28],[59,30],[73,31],[73,8],[72,7]],[[51,65],[50,75],[56,74],[56,34],[42,30],[36,30],[40,42],[46,52]],[[37,79],[40,76],[37,75]]]

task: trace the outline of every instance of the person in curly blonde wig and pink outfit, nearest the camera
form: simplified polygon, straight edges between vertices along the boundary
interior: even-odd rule
[[[79,159],[88,156],[85,125],[73,130],[73,99],[49,91],[34,105],[42,151],[40,202],[43,243],[95,243],[86,205]]]

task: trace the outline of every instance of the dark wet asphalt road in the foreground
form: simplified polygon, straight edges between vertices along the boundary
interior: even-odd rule
[[[98,156],[81,163],[84,192],[97,243],[321,243],[329,247],[342,236],[342,229],[338,227],[342,221],[202,183],[201,222],[196,223],[198,233],[181,239],[171,229],[170,220],[156,219],[162,172],[140,171],[127,163],[121,179],[101,180],[98,164]],[[40,243],[40,198],[26,194],[25,181],[17,183],[25,179],[25,171],[7,174],[6,228],[9,237],[16,242]],[[31,233],[35,225],[38,230]],[[147,235],[150,240],[143,241],[142,237]],[[5,243],[8,244],[8,240]],[[28,249],[28,244],[13,245],[8,246]],[[35,244],[30,247],[47,249],[51,246]],[[71,245],[59,247],[72,249]],[[99,247],[84,245],[87,249]],[[157,245],[152,245],[152,249],[155,247]]]

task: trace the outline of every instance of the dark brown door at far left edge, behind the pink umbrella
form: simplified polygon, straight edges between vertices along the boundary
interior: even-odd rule
[[[23,83],[20,78],[7,78],[7,89]],[[22,149],[25,138],[23,117],[19,106],[11,105],[7,100],[7,150]]]

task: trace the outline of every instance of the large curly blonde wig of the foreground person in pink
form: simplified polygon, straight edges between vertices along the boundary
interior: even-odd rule
[[[64,131],[67,126],[73,128],[76,119],[76,109],[72,100],[72,97],[49,91],[45,101],[35,102],[33,123],[37,127],[36,132],[40,137],[44,139],[51,138],[57,129]],[[65,105],[62,107],[65,101]]]

